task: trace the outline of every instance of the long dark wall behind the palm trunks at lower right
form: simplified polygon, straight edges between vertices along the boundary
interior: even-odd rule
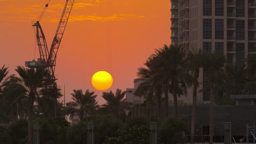
[[[133,117],[156,116],[156,107],[134,107],[131,110]],[[209,105],[197,106],[195,130],[209,125]],[[246,123],[253,125],[256,122],[256,105],[215,105],[214,108],[215,135],[223,135],[224,122],[231,122],[232,135],[246,135]],[[173,116],[173,107],[168,109],[169,116]],[[164,118],[165,109],[161,107],[161,117]],[[178,117],[188,119],[190,128],[191,106],[179,106]]]

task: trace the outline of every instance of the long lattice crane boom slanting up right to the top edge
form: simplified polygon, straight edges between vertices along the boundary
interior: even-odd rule
[[[49,69],[51,72],[51,79],[55,80],[56,77],[54,75],[55,65],[56,65],[56,56],[59,49],[60,42],[62,40],[63,33],[65,31],[70,12],[72,10],[74,0],[66,0],[66,4],[64,6],[61,18],[59,20],[59,25],[56,30],[55,36],[53,38],[53,43],[49,52],[48,62]]]

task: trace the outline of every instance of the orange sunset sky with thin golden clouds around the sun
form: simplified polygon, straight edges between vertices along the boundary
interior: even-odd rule
[[[0,0],[0,66],[39,58],[32,21],[49,0]],[[66,0],[50,0],[40,20],[48,47],[53,41]],[[93,88],[92,75],[107,71],[113,85],[105,92],[134,87],[139,67],[164,44],[171,44],[170,0],[75,0],[56,61],[56,81],[71,101],[73,89]],[[59,101],[62,101],[60,98]]]

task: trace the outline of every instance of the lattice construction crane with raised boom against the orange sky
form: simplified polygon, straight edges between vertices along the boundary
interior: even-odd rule
[[[40,58],[38,58],[37,61],[35,61],[34,59],[33,61],[25,62],[25,66],[29,68],[44,68],[48,70],[48,73],[45,76],[46,79],[51,80],[52,82],[55,83],[55,81],[57,80],[55,75],[56,56],[59,50],[59,45],[61,43],[63,33],[65,31],[65,28],[69,19],[70,12],[72,10],[74,0],[66,0],[61,18],[59,20],[59,25],[57,27],[55,36],[53,38],[53,43],[50,49],[48,49],[46,38],[43,33],[43,29],[39,23],[44,12],[46,11],[46,8],[48,7],[48,3],[46,4],[41,15],[39,16],[39,19],[36,22],[34,22],[32,25],[35,28],[36,43],[39,48]]]

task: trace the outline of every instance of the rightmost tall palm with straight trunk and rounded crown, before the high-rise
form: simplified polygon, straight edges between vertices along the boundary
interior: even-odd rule
[[[216,73],[223,68],[225,62],[226,58],[220,52],[204,54],[203,69],[207,71],[210,81],[210,144],[213,144],[214,79]]]

